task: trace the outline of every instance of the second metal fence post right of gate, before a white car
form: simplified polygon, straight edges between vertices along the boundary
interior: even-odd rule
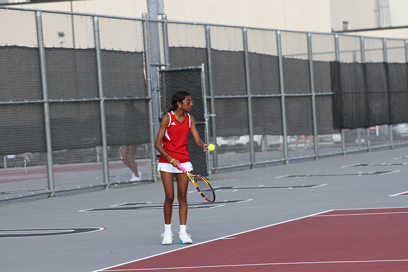
[[[244,63],[245,63],[245,87],[248,107],[248,130],[249,130],[249,157],[251,168],[255,167],[255,151],[253,149],[253,115],[252,115],[252,94],[251,94],[251,77],[249,73],[249,53],[248,53],[248,30],[242,29],[244,43]]]

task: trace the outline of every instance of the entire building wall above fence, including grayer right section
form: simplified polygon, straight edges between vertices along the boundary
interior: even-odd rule
[[[408,0],[389,0],[392,26],[408,26]],[[69,1],[12,7],[71,11]],[[164,0],[168,20],[266,29],[331,32],[377,28],[377,0]],[[146,0],[77,0],[73,12],[141,18]],[[160,16],[159,16],[160,18]],[[406,30],[350,33],[408,38]]]

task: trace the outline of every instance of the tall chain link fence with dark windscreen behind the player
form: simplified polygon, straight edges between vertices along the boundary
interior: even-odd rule
[[[157,181],[179,89],[217,144],[189,141],[210,177],[408,143],[407,40],[3,7],[0,22],[0,203]]]

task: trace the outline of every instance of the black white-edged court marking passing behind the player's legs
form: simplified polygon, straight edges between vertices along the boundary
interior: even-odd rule
[[[241,203],[246,201],[251,201],[253,199],[248,200],[226,200],[226,201],[219,201],[219,202],[192,202],[188,203],[189,209],[212,209],[221,206],[225,206],[226,204],[234,204],[234,203]],[[164,203],[154,203],[154,202],[146,202],[146,203],[122,203],[113,205],[108,208],[95,208],[95,209],[87,209],[81,210],[79,212],[92,212],[92,211],[134,211],[134,210],[163,210]],[[173,204],[173,209],[178,209],[179,203]]]

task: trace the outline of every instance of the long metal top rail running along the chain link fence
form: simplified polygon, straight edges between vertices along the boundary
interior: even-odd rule
[[[134,21],[145,21],[142,18],[132,18],[132,17],[121,17],[113,15],[103,15],[103,14],[91,14],[91,13],[80,13],[80,12],[69,12],[69,11],[53,11],[53,10],[39,10],[39,9],[27,9],[27,8],[13,8],[8,6],[0,6],[0,9],[6,10],[21,10],[21,11],[41,11],[48,13],[58,13],[67,15],[81,15],[81,16],[97,16],[100,18],[112,18],[112,19],[122,19],[122,20],[134,20]],[[158,20],[158,19],[147,19],[148,22],[167,22],[167,23],[179,23],[179,24],[191,24],[195,26],[212,26],[212,27],[226,27],[226,28],[240,28],[240,29],[252,29],[252,30],[265,30],[265,31],[280,31],[280,32],[292,32],[292,33],[304,33],[304,34],[320,34],[320,35],[338,35],[338,36],[351,36],[351,37],[364,37],[364,38],[377,38],[377,39],[387,39],[387,40],[403,40],[408,42],[408,39],[403,38],[385,38],[385,37],[372,37],[363,35],[352,35],[344,34],[339,32],[314,32],[314,31],[298,31],[298,30],[282,30],[282,29],[270,29],[270,28],[256,28],[256,27],[244,27],[244,26],[232,26],[228,24],[216,24],[216,23],[203,23],[203,22],[187,22],[187,21],[173,21],[173,20]],[[405,27],[406,28],[406,27]]]

